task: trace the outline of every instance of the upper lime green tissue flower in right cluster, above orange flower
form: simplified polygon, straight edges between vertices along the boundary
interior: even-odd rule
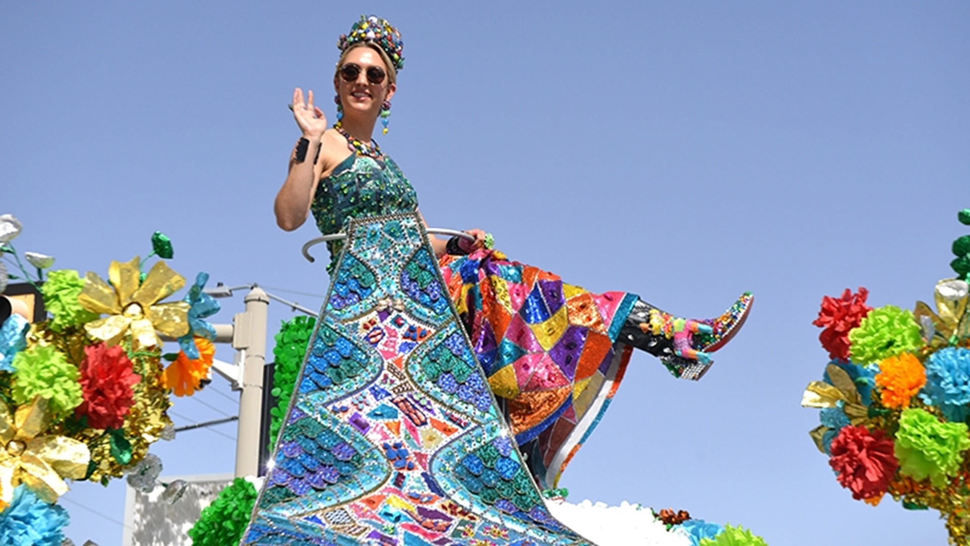
[[[913,312],[895,305],[869,311],[858,327],[849,332],[849,341],[849,354],[860,364],[915,351],[923,345],[920,324],[913,318]]]

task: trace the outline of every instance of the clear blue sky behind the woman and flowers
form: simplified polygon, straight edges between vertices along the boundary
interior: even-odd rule
[[[932,512],[852,500],[799,401],[825,363],[824,294],[911,307],[951,274],[970,206],[964,2],[5,2],[0,213],[24,222],[18,248],[104,273],[160,229],[186,277],[325,293],[299,254],[313,226],[280,231],[272,201],[292,89],[333,119],[335,44],[361,13],[404,34],[379,140],[429,222],[688,316],[757,293],[701,382],[632,359],[570,500],[684,508],[773,545],[946,543]],[[242,297],[224,306],[220,322]],[[178,425],[236,412],[212,387],[176,401]],[[231,472],[220,434],[235,426],[153,452],[166,474]],[[77,503],[120,521],[123,492],[77,484],[68,534],[118,543]]]

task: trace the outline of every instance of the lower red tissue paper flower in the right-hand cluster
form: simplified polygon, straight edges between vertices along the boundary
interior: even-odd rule
[[[856,500],[882,496],[899,468],[892,440],[884,430],[870,433],[866,427],[847,426],[832,440],[828,464],[838,472],[842,487]]]

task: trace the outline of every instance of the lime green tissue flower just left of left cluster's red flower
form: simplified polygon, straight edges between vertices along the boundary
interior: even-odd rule
[[[49,400],[51,415],[64,417],[81,405],[81,373],[64,354],[37,345],[14,357],[14,401],[25,404],[36,396]]]

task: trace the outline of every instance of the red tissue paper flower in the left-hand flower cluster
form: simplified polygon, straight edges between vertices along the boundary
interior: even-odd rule
[[[92,428],[120,428],[134,403],[132,387],[142,377],[132,370],[131,360],[120,346],[105,343],[84,347],[81,391],[84,401],[78,415],[87,416]]]

